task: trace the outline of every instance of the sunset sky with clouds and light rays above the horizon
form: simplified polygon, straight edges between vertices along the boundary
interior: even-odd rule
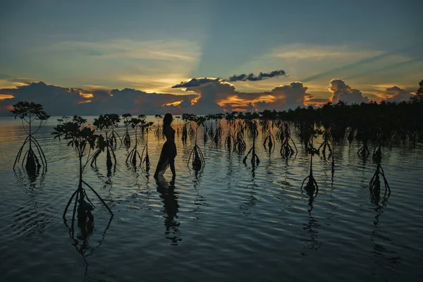
[[[423,79],[422,9],[419,0],[1,0],[0,115],[20,100],[70,115],[409,99]],[[283,75],[259,75],[272,71]],[[201,78],[210,79],[175,87]]]

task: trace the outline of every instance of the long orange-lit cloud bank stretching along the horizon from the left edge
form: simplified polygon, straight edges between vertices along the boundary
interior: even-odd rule
[[[107,90],[68,88],[33,82],[14,89],[0,90],[0,115],[11,115],[18,101],[37,102],[51,116],[116,114],[214,114],[222,111],[293,109],[312,99],[301,82],[274,87],[268,92],[240,92],[228,82],[212,82],[187,87],[183,95],[147,93],[124,88]],[[195,85],[195,84],[192,84]]]

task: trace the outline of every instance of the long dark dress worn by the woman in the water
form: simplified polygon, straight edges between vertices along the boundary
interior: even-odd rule
[[[166,169],[171,164],[174,164],[176,157],[175,130],[169,125],[164,128],[163,133],[166,136],[166,142],[164,142],[161,148],[159,162],[157,163],[157,176],[162,176],[166,172]]]

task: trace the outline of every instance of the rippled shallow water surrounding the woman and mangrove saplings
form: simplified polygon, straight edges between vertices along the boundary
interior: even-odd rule
[[[331,162],[314,157],[319,193],[312,199],[300,189],[305,150],[298,145],[298,155],[285,160],[278,143],[269,154],[261,130],[255,168],[223,141],[204,144],[200,130],[206,167],[197,176],[186,164],[193,140],[178,138],[173,192],[170,171],[157,184],[125,165],[121,147],[111,176],[104,154],[97,169],[85,171],[114,218],[88,192],[96,208],[84,242],[76,223],[73,239],[61,218],[78,163],[66,142],[51,137],[54,125],[51,118],[37,133],[48,169],[30,181],[12,169],[25,139],[20,121],[0,119],[1,281],[421,281],[423,146],[383,148],[391,194],[382,189],[377,203],[368,189],[376,166],[357,156],[357,142],[336,147],[333,178]],[[152,173],[163,143],[149,135]]]

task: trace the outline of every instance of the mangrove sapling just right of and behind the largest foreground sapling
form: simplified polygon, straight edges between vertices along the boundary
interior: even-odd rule
[[[116,166],[116,154],[114,153],[114,148],[116,148],[116,135],[114,128],[118,127],[118,123],[121,121],[121,118],[117,114],[105,114],[100,115],[99,118],[94,118],[94,125],[98,130],[102,130],[106,134],[106,146],[97,148],[97,151],[94,153],[94,156],[91,160],[91,166],[97,166],[97,158],[101,152],[104,152],[106,149],[106,166],[107,169],[111,169],[113,162],[111,157],[114,159],[114,164]]]

